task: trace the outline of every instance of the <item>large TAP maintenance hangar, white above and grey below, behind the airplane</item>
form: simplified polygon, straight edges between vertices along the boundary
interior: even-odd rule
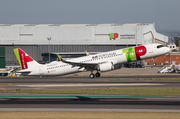
[[[48,40],[49,39],[49,40]],[[38,62],[57,60],[56,53],[73,58],[148,43],[167,45],[168,37],[153,24],[0,24],[0,47],[6,65],[18,65],[14,48],[21,48]]]

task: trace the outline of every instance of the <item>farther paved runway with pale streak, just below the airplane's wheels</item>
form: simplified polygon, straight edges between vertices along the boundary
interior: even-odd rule
[[[179,88],[180,81],[132,81],[116,78],[86,77],[13,77],[0,78],[0,89],[72,89],[72,88]]]

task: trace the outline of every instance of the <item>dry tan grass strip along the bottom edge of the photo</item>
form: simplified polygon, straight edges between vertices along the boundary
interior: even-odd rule
[[[163,112],[0,112],[1,119],[179,119],[180,113]]]

